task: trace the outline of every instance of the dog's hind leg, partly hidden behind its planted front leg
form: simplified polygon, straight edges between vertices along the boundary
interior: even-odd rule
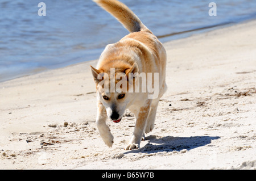
[[[159,103],[158,99],[152,100],[152,103],[150,106],[150,112],[148,113],[148,117],[147,117],[146,127],[144,129],[145,133],[151,132],[155,126],[155,115],[156,115],[156,110],[158,108],[158,103]]]

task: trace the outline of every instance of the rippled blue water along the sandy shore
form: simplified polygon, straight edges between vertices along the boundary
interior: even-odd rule
[[[106,44],[128,31],[90,0],[0,0],[0,82],[97,59]],[[157,36],[256,18],[255,0],[122,0]],[[181,37],[167,36],[162,42]]]

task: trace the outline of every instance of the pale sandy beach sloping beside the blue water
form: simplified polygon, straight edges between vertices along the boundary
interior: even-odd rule
[[[0,83],[0,169],[256,169],[256,21],[164,44],[168,90],[141,148],[98,133],[89,65]]]

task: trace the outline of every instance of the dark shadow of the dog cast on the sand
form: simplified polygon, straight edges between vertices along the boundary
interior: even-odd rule
[[[146,137],[149,142],[142,148],[130,150],[124,154],[129,153],[158,153],[160,151],[181,151],[181,150],[191,150],[198,148],[200,146],[205,146],[210,144],[212,140],[219,139],[218,136],[192,136],[192,137],[157,137],[151,135]],[[154,144],[152,144],[154,143]]]

